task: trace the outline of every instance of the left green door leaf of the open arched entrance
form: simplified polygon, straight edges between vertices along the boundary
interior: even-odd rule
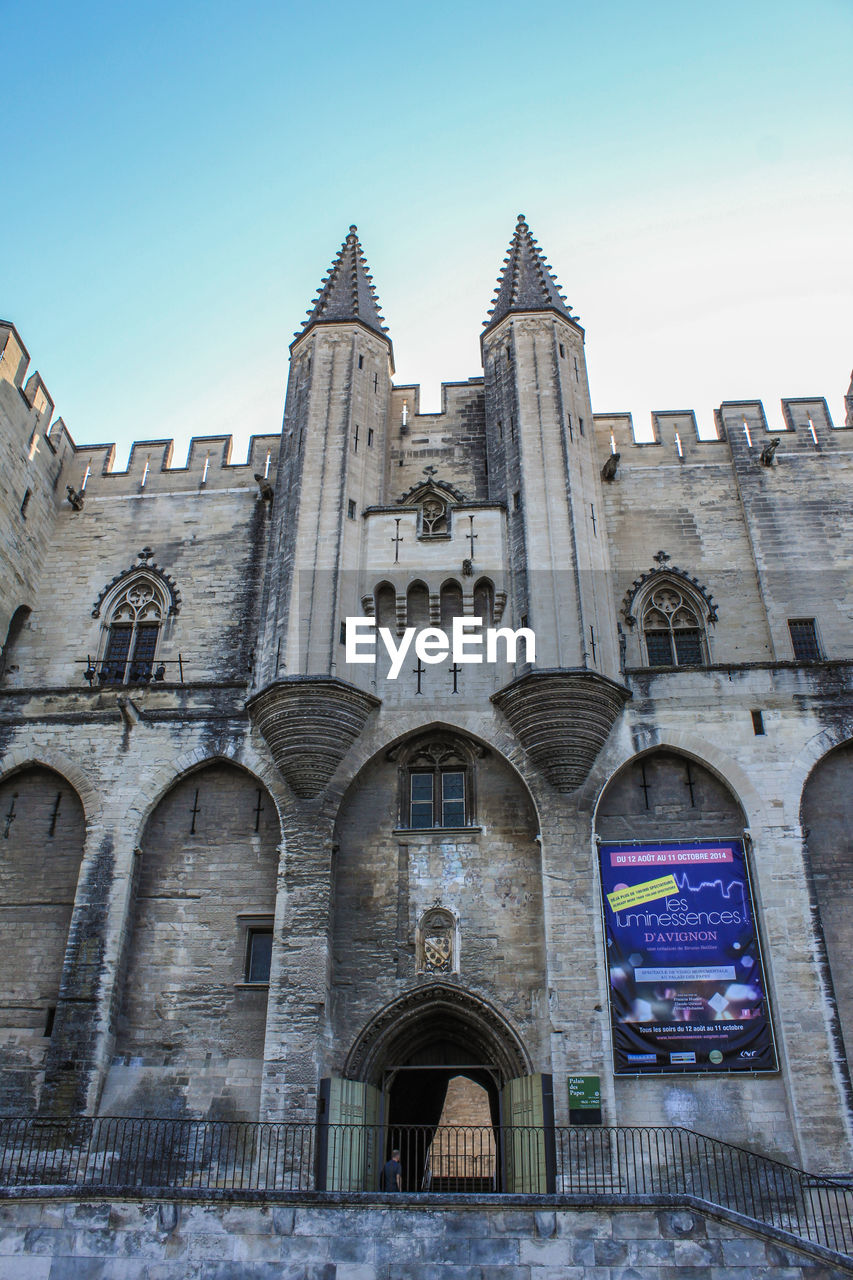
[[[382,1139],[382,1093],[362,1080],[320,1080],[316,1188],[375,1192]]]

